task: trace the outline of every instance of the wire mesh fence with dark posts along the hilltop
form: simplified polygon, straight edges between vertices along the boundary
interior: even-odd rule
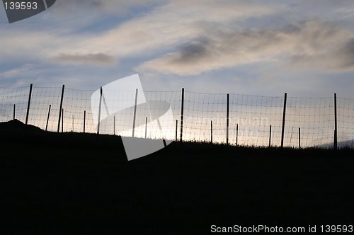
[[[134,132],[142,138],[259,147],[354,146],[354,99],[336,94],[298,98],[144,91],[147,105],[126,108],[125,103],[137,102],[137,91],[101,91],[99,101],[92,99],[94,92],[64,86],[0,88],[0,122],[16,118],[50,132]],[[107,103],[119,111],[110,112]],[[161,117],[169,108],[172,117]]]

